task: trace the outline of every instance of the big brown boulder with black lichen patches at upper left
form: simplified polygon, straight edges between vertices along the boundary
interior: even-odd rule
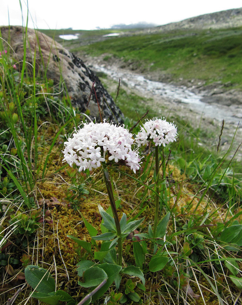
[[[21,64],[24,54],[23,39],[25,30],[19,26],[1,27],[2,38],[9,42],[13,56]],[[102,118],[122,123],[124,117],[121,110],[114,104],[112,97],[103,88],[99,78],[85,66],[83,61],[63,48],[58,42],[38,31],[28,29],[26,42],[26,62],[33,64],[36,46],[36,74],[44,75],[54,80],[54,84],[65,82],[72,105],[85,112],[88,106],[90,116],[100,120],[98,104],[100,103]],[[10,37],[10,40],[9,40]],[[33,68],[27,64],[32,73]],[[96,91],[96,96],[94,90]],[[90,97],[90,100],[89,100]],[[89,102],[88,102],[89,101]]]

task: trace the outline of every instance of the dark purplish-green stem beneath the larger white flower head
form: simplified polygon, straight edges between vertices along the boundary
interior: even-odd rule
[[[117,215],[117,208],[115,205],[113,189],[112,189],[111,181],[109,178],[109,172],[108,172],[107,165],[105,162],[102,162],[102,167],[103,167],[103,174],[104,174],[104,180],[105,180],[105,184],[106,184],[106,188],[107,188],[108,198],[110,201],[111,209],[112,209],[113,216],[114,216],[114,222],[115,222],[116,230],[117,230],[118,264],[121,266],[122,265],[122,246],[123,246],[122,237],[121,237],[121,228],[120,228],[120,223],[119,223],[119,219],[118,219],[118,215]]]

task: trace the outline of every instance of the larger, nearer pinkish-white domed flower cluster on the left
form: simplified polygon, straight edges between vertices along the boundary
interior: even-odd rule
[[[64,159],[71,167],[75,163],[79,171],[88,168],[92,170],[101,166],[105,161],[106,152],[108,160],[123,161],[134,173],[140,168],[140,157],[137,150],[132,150],[134,140],[132,134],[123,126],[107,123],[84,123],[73,134],[72,138],[64,143]]]

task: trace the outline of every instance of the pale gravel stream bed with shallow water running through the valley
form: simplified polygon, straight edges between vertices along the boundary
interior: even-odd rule
[[[171,83],[152,81],[146,79],[143,75],[139,75],[133,71],[122,69],[117,65],[106,65],[98,63],[96,59],[88,57],[86,62],[90,68],[96,72],[103,72],[112,80],[121,80],[121,87],[127,92],[134,92],[144,98],[152,99],[150,107],[157,112],[157,116],[172,116],[187,120],[194,128],[202,128],[204,130],[203,139],[200,145],[208,145],[214,148],[218,144],[218,138],[222,120],[224,119],[224,130],[221,139],[220,150],[226,152],[230,147],[234,133],[237,129],[236,136],[233,140],[233,149],[231,149],[228,157],[232,157],[235,150],[242,141],[242,103],[235,98],[227,99],[227,93],[220,92],[217,88],[208,90],[200,86],[197,88],[187,88],[185,86],[177,86]],[[115,88],[109,88],[109,91],[115,91]],[[219,95],[215,95],[218,91]],[[215,94],[214,94],[215,92]],[[237,96],[238,96],[238,92]],[[221,103],[216,103],[215,96],[219,97]],[[206,102],[204,102],[204,100]],[[235,100],[235,102],[231,102]],[[227,105],[226,105],[227,104]],[[179,128],[179,127],[178,127]],[[207,140],[206,140],[206,134]],[[242,145],[241,145],[242,146]],[[242,159],[242,147],[236,154],[236,160]]]

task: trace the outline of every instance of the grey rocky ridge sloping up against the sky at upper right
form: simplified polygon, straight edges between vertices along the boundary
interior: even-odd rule
[[[242,26],[242,7],[227,9],[216,13],[204,14],[179,22],[168,23],[156,27],[156,30],[169,31],[177,29],[220,29]]]

